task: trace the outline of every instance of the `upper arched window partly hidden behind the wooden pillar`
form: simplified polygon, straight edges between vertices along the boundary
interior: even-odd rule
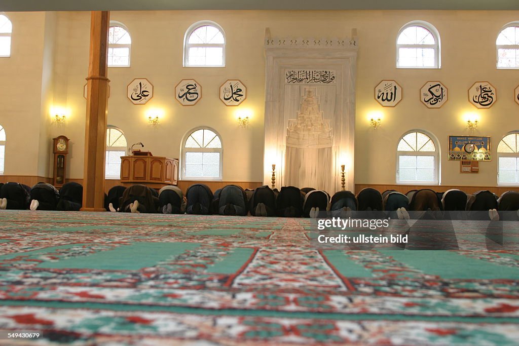
[[[130,66],[131,37],[126,26],[110,22],[108,30],[108,67]]]

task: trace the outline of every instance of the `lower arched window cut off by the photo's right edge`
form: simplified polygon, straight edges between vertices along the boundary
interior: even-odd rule
[[[519,185],[519,132],[511,132],[499,142],[497,162],[497,183]]]

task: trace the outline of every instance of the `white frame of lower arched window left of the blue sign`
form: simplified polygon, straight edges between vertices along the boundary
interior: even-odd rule
[[[413,132],[420,132],[425,135],[427,135],[432,143],[434,144],[434,147],[436,148],[435,151],[400,151],[398,150],[398,145],[400,144],[400,141],[404,139],[406,135]],[[400,156],[434,156],[434,181],[409,181],[409,180],[400,180]],[[397,185],[441,185],[441,162],[440,162],[440,144],[438,142],[438,139],[435,135],[432,133],[420,130],[420,129],[414,129],[409,130],[405,133],[403,133],[397,142],[397,159],[395,161],[395,179],[397,182]]]

